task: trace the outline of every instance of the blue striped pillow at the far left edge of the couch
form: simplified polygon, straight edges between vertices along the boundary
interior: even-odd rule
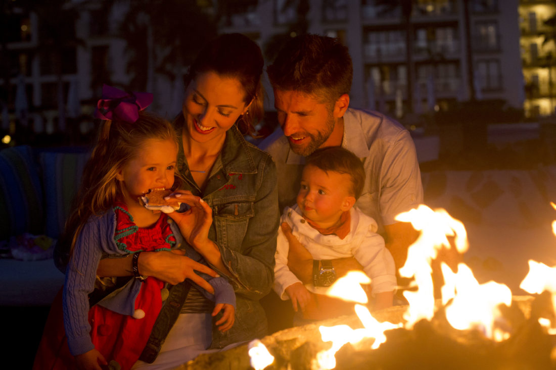
[[[0,151],[0,174],[0,240],[43,233],[42,188],[31,147]]]

